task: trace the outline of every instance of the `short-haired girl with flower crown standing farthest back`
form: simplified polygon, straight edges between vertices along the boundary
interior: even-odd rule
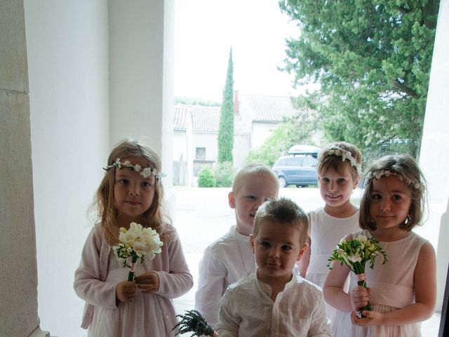
[[[330,143],[319,154],[317,166],[323,207],[309,212],[309,249],[298,264],[302,277],[323,286],[329,269],[328,258],[340,239],[358,230],[358,209],[351,204],[351,193],[361,176],[362,154],[346,142]],[[335,308],[326,304],[332,321]]]

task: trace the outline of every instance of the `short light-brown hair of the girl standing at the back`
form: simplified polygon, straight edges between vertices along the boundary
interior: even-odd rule
[[[318,164],[316,166],[316,171],[318,174],[321,176],[321,174],[328,171],[328,169],[334,169],[338,173],[344,174],[344,171],[347,167],[349,167],[349,169],[351,169],[352,180],[356,181],[360,179],[360,174],[358,173],[356,167],[354,167],[349,160],[344,160],[344,158],[335,154],[336,149],[350,152],[351,157],[361,168],[363,156],[360,150],[358,150],[358,147],[347,142],[335,142],[328,144],[320,152]]]

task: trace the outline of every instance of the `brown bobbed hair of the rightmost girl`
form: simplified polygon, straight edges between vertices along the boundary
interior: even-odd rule
[[[358,223],[362,229],[376,230],[377,225],[370,216],[370,205],[373,201],[373,180],[384,176],[398,177],[408,188],[412,203],[406,221],[399,225],[401,230],[410,231],[420,225],[425,206],[425,180],[415,159],[408,154],[390,154],[373,159],[366,171],[366,189],[360,203],[360,218]]]

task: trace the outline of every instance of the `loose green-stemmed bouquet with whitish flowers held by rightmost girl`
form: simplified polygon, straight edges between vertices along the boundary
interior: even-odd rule
[[[365,265],[367,262],[370,263],[370,268],[374,268],[375,258],[381,255],[384,260],[382,264],[387,262],[387,254],[385,253],[382,246],[380,246],[379,241],[374,237],[366,237],[365,235],[358,235],[355,239],[351,240],[340,240],[337,244],[337,249],[332,252],[330,258],[328,258],[328,267],[332,261],[340,261],[340,265],[347,265],[350,270],[357,275],[359,286],[364,286],[367,288],[365,281]],[[371,305],[368,303],[365,307],[361,308],[360,311],[371,310]],[[361,315],[363,317],[363,315]]]

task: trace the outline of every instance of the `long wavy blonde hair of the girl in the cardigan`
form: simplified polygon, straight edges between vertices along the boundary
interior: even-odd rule
[[[112,166],[117,158],[131,159],[135,157],[144,158],[149,161],[152,169],[157,169],[161,172],[161,159],[159,155],[144,143],[127,138],[122,140],[114,149],[112,149],[109,158],[107,159],[107,166]],[[114,207],[114,184],[115,184],[116,167],[107,170],[103,177],[97,193],[93,206],[96,206],[98,215],[101,218],[101,226],[105,239],[111,245],[118,243],[119,224],[117,221],[116,209]],[[172,233],[171,220],[163,212],[163,186],[160,178],[156,178],[154,189],[154,197],[152,205],[143,214],[145,223],[143,227],[152,227],[159,233],[161,239],[166,238]]]

